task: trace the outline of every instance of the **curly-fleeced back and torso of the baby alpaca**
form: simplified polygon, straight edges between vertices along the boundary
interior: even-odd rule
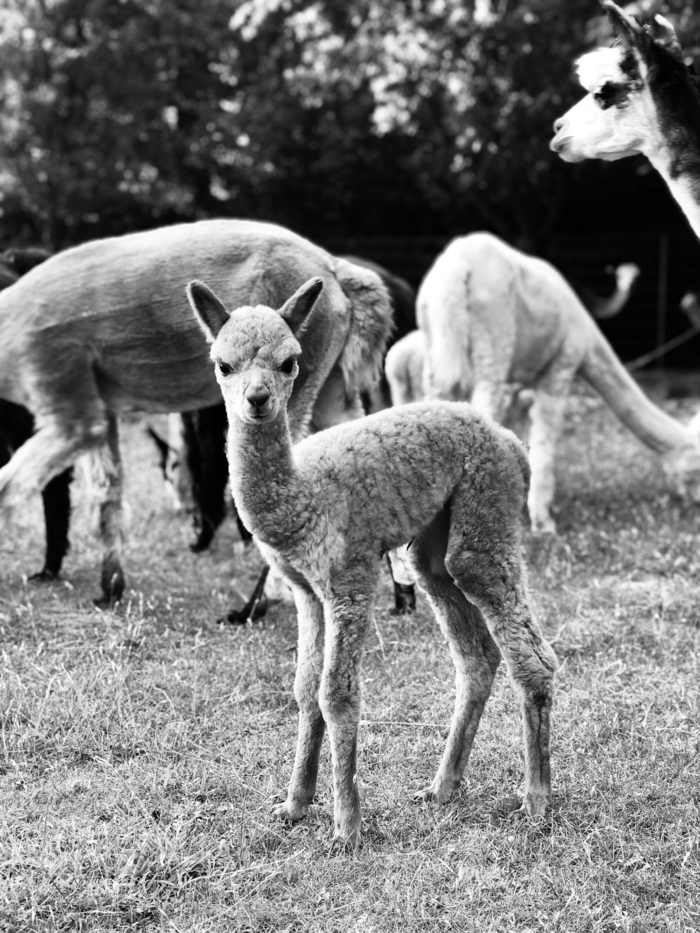
[[[296,444],[294,462],[295,508],[313,519],[298,545],[312,577],[411,540],[460,488],[478,488],[475,503],[493,515],[515,497],[519,513],[529,480],[520,441],[465,402],[415,402],[330,427]]]

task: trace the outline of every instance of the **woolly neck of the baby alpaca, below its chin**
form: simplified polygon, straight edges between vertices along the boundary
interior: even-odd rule
[[[236,508],[250,532],[272,547],[298,529],[303,488],[292,453],[287,411],[249,425],[227,405],[229,466]]]

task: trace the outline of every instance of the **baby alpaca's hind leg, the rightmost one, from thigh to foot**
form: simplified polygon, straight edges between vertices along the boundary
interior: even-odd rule
[[[469,602],[483,613],[508,666],[521,703],[525,736],[525,799],[519,812],[539,818],[551,800],[550,709],[556,658],[528,605],[519,528],[513,528],[509,540],[494,521],[489,541],[484,523],[469,515],[469,499],[473,496],[465,504],[453,500],[445,566]]]

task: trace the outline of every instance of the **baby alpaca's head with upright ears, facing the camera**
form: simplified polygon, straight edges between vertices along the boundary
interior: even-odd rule
[[[211,288],[189,283],[189,304],[212,344],[209,355],[230,421],[235,416],[263,424],[285,409],[299,374],[299,338],[322,288],[322,279],[309,279],[279,311],[257,305],[229,313]]]

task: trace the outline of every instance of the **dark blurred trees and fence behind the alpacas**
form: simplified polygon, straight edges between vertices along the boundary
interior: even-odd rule
[[[692,2],[625,9],[693,63]],[[689,327],[700,247],[642,157],[549,150],[573,62],[610,42],[597,0],[0,0],[0,248],[250,217],[417,286],[491,230],[600,295],[637,263],[601,322],[636,360]]]

